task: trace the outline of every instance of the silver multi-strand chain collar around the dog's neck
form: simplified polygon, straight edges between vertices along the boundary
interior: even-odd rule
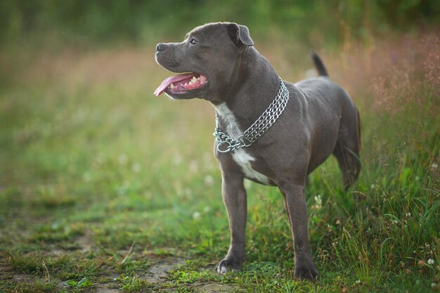
[[[231,152],[232,150],[252,145],[276,122],[276,119],[283,112],[285,105],[287,105],[288,100],[289,91],[287,91],[283,80],[280,78],[280,89],[272,100],[271,105],[268,105],[268,108],[266,108],[257,121],[237,139],[231,138],[219,129],[219,115],[216,112],[214,136],[217,142],[217,150],[219,152]]]

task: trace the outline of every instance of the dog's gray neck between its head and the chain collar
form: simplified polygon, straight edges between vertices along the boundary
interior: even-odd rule
[[[231,77],[235,87],[225,89],[224,102],[212,103],[217,112],[227,108],[240,125],[247,129],[276,97],[279,89],[279,77],[268,60],[261,56],[254,47],[248,47],[235,61],[235,74]],[[257,93],[250,95],[250,93]],[[221,117],[221,120],[226,117]],[[222,121],[220,123],[222,124]]]

